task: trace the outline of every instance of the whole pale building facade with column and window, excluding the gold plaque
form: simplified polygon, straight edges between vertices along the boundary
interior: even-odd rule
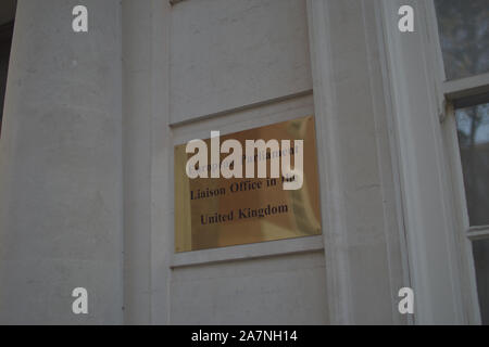
[[[487,0],[0,13],[0,323],[489,322]],[[322,234],[176,253],[174,147],[308,115]]]

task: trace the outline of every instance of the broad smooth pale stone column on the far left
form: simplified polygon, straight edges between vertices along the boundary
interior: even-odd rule
[[[88,8],[88,33],[72,9]],[[122,323],[117,0],[18,0],[0,140],[0,323]],[[88,314],[72,312],[75,287]]]

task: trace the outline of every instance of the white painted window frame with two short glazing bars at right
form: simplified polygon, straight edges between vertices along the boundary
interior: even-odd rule
[[[399,33],[413,7],[415,31]],[[453,100],[488,76],[446,81],[434,0],[379,0],[416,324],[480,324]],[[467,237],[467,232],[469,237]]]

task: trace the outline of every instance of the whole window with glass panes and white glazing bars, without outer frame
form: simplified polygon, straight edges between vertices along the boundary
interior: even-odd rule
[[[435,9],[463,174],[455,182],[465,195],[461,232],[472,244],[480,318],[489,324],[489,0],[435,0]]]

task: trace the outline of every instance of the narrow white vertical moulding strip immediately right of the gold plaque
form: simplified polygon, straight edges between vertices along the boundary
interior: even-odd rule
[[[336,132],[337,114],[335,88],[331,82],[333,67],[329,56],[328,30],[325,13],[327,1],[308,0],[308,20],[310,28],[310,48],[314,85],[314,105],[316,113],[316,131],[318,151],[323,236],[326,258],[326,279],[329,319],[331,324],[351,324],[351,283],[350,264],[342,249],[348,241],[347,222],[341,193],[342,182],[339,171],[339,151]]]

